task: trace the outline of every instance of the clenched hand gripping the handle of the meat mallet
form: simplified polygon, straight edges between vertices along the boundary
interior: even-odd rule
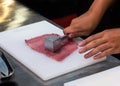
[[[99,20],[92,12],[88,11],[72,20],[70,26],[64,29],[64,33],[70,38],[88,36],[98,25]]]

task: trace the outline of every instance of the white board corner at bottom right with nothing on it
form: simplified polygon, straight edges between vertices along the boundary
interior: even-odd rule
[[[120,86],[120,66],[67,82],[64,86]]]

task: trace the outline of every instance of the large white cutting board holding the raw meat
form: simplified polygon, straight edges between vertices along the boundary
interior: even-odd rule
[[[84,59],[84,54],[79,54],[78,50],[76,50],[64,61],[57,62],[32,50],[24,41],[25,39],[30,39],[47,33],[63,35],[60,28],[47,21],[41,21],[14,30],[1,32],[0,47],[43,80],[49,80],[105,60],[105,58],[100,60],[93,60],[93,58]]]

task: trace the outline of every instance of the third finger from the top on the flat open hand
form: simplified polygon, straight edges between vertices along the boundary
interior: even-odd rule
[[[111,47],[108,46],[107,43],[106,43],[106,44],[102,44],[102,45],[94,48],[93,50],[91,50],[91,51],[88,52],[87,54],[85,54],[85,58],[92,57],[92,56],[94,56],[94,55],[96,55],[96,54],[98,54],[98,53],[100,53],[100,52],[103,52],[103,51],[105,51],[105,50],[108,50],[108,49],[110,49],[110,48],[111,48]]]

